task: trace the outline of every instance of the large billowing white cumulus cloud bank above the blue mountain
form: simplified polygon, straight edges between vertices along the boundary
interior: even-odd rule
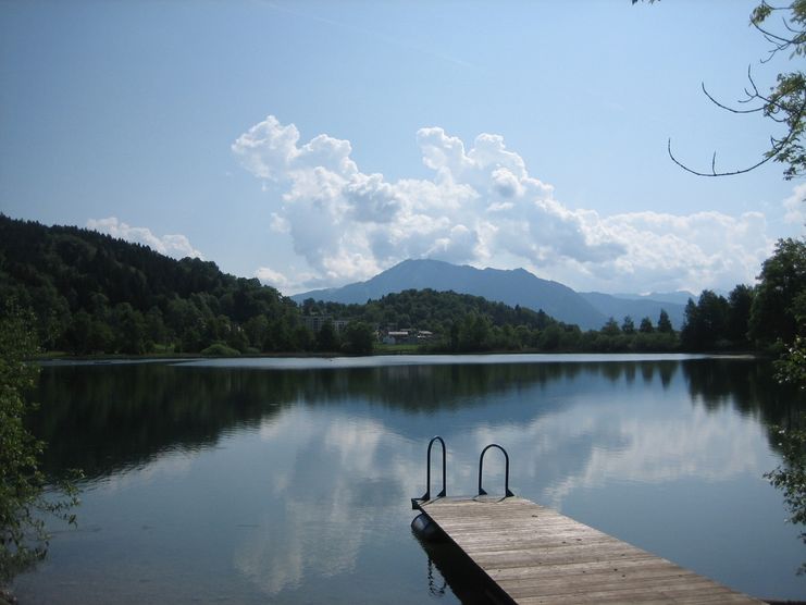
[[[273,115],[232,150],[282,193],[271,225],[290,235],[314,273],[309,285],[340,285],[407,258],[435,258],[524,267],[578,289],[697,292],[753,282],[773,246],[757,212],[604,217],[571,209],[500,135],[481,134],[468,148],[426,127],[416,140],[431,178],[390,182],[364,173],[349,141],[322,134],[301,143],[294,124]],[[799,208],[785,203],[795,220]],[[277,285],[285,279],[261,271]]]

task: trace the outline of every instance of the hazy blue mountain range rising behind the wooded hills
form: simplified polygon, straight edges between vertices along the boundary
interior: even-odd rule
[[[356,282],[338,288],[314,289],[292,298],[301,302],[307,298],[349,304],[364,304],[390,293],[405,289],[431,288],[438,292],[483,296],[506,305],[543,309],[553,318],[575,323],[583,330],[598,330],[609,318],[619,323],[630,316],[635,325],[645,317],[657,324],[660,310],[669,314],[675,329],[683,323],[685,302],[695,298],[691,293],[610,295],[597,292],[578,293],[558,282],[542,280],[525,269],[475,269],[441,260],[405,260],[365,282]]]

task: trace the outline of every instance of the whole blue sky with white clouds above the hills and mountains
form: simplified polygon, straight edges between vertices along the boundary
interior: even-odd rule
[[[803,181],[728,114],[754,2],[0,1],[0,211],[286,294],[405,258],[580,291],[751,283]],[[802,66],[801,66],[802,67]]]

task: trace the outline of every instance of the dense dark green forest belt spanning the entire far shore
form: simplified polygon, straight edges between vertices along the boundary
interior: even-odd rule
[[[30,309],[45,349],[72,355],[365,354],[386,330],[426,331],[421,349],[432,351],[749,350],[793,341],[806,317],[805,292],[805,245],[785,239],[755,287],[739,285],[727,298],[704,291],[690,300],[679,333],[662,311],[583,332],[542,310],[432,289],[364,305],[297,306],[214,262],[0,214],[0,308]],[[305,318],[315,316],[334,321],[314,333]]]

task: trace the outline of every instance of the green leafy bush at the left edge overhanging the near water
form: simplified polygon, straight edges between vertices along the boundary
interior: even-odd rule
[[[29,360],[39,350],[29,312],[7,305],[0,318],[0,583],[47,554],[48,533],[41,514],[75,523],[70,513],[77,492],[64,483],[62,499],[46,494],[39,470],[45,444],[25,428],[32,408],[25,395],[36,384],[38,367]]]

